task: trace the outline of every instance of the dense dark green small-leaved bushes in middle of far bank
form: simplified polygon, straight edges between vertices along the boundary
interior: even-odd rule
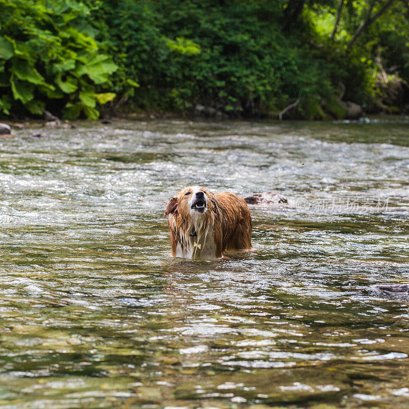
[[[280,2],[115,0],[101,7],[99,38],[141,85],[133,96],[140,108],[186,112],[200,104],[254,116],[300,97],[299,115],[321,118],[321,100],[334,94],[325,61],[311,56],[299,32],[283,33]]]

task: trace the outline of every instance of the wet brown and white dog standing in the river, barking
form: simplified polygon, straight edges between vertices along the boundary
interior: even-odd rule
[[[169,200],[165,215],[174,257],[217,259],[225,250],[252,249],[252,215],[234,193],[191,186]]]

